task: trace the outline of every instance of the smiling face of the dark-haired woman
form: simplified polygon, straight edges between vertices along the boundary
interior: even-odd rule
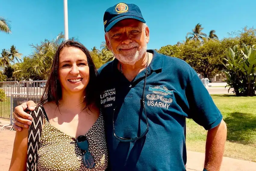
[[[89,82],[85,53],[76,47],[64,47],[59,55],[58,75],[62,93],[83,93]]]

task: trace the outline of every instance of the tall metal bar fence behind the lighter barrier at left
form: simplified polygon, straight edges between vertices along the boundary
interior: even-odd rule
[[[47,80],[0,82],[0,118],[11,119],[12,109],[21,104],[20,102],[22,101],[11,101],[13,94],[26,95],[27,100],[22,95],[13,96],[14,99],[23,98],[23,101],[33,100],[35,103],[38,103],[42,97],[46,82]]]

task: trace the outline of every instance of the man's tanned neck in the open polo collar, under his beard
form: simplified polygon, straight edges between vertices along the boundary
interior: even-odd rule
[[[148,57],[147,57],[147,53],[148,53]],[[147,62],[148,62],[148,65],[150,64],[150,62],[152,61],[152,58],[153,58],[152,53],[145,52],[143,57],[139,61],[137,61],[134,65],[122,64],[119,62],[117,67],[120,68],[120,65],[121,65],[123,75],[129,81],[132,81],[138,73],[140,73],[142,70],[144,70],[145,67],[147,67],[146,66]]]

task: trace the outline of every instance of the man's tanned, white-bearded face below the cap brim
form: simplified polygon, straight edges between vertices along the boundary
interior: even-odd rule
[[[111,28],[105,39],[108,49],[121,63],[133,65],[147,50],[149,30],[136,19],[124,19]]]

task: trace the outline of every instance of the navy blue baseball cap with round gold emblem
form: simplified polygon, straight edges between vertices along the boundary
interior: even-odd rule
[[[108,8],[103,17],[105,32],[108,32],[117,22],[128,18],[137,19],[146,23],[139,7],[135,4],[121,2]]]

